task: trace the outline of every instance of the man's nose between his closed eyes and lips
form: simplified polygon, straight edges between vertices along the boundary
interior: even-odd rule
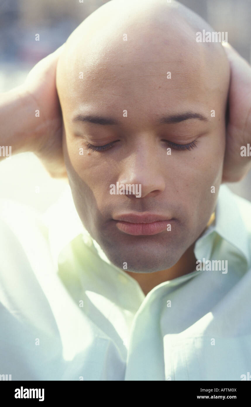
[[[165,167],[160,157],[160,150],[149,140],[138,142],[127,158],[124,158],[121,165],[119,183],[135,186],[135,191],[141,189],[141,196],[138,198],[155,197],[165,189],[165,179],[163,168]],[[163,149],[163,158],[165,151]],[[137,189],[138,188],[138,189]],[[137,197],[136,194],[129,193],[128,197]],[[133,188],[131,188],[132,190]],[[134,192],[134,191],[133,191]]]

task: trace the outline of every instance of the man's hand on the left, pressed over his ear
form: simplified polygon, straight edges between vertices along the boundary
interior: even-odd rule
[[[33,125],[32,151],[50,175],[56,178],[67,177],[62,151],[61,109],[56,90],[56,67],[63,46],[39,61],[23,85],[34,117],[35,111],[39,110],[35,128]]]

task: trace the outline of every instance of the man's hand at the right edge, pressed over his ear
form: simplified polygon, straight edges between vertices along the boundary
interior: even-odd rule
[[[223,43],[231,67],[229,122],[222,182],[238,182],[251,169],[251,157],[240,147],[251,146],[251,66],[228,43]]]

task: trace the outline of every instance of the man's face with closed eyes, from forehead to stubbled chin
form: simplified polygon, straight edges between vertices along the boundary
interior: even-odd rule
[[[95,43],[94,56],[87,50],[73,61],[67,96],[59,91],[63,149],[85,228],[114,265],[151,272],[175,265],[214,211],[227,80],[219,83],[195,40],[188,47],[178,39],[159,41],[158,30],[152,37],[142,33],[141,43],[133,35],[130,42]],[[141,196],[111,195],[117,182],[140,185]],[[126,214],[146,214],[148,222],[156,215],[163,223],[133,226],[141,222]]]

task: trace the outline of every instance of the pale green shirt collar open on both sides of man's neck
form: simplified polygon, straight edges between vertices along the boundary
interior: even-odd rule
[[[220,186],[215,220],[203,232],[194,246],[197,260],[210,259],[215,241],[214,237],[218,234],[228,245],[238,250],[240,256],[246,260],[246,265],[249,263],[249,236],[240,214],[238,199],[240,198],[232,193],[225,184]],[[74,205],[70,186],[65,188],[59,200],[45,212],[44,222],[48,227],[48,239],[56,269],[59,254],[78,235],[82,236],[83,241],[88,246],[94,245],[100,258],[111,264],[100,245],[92,239],[89,232],[83,227]],[[113,265],[113,267],[115,266]]]

